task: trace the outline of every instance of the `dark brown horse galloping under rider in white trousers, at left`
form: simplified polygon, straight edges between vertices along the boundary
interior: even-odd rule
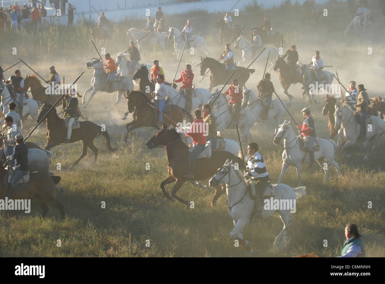
[[[52,105],[42,104],[40,106],[39,115],[37,116],[37,122],[39,122],[45,114],[51,109]],[[47,146],[44,150],[50,150],[52,147],[60,145],[63,143],[64,139],[67,137],[67,129],[63,128],[63,120],[59,118],[56,113],[56,109],[52,109],[46,117],[47,132]],[[72,165],[77,165],[81,159],[87,155],[87,148],[90,148],[94,154],[94,164],[96,162],[98,149],[94,145],[94,139],[97,136],[102,135],[105,140],[105,147],[110,152],[115,152],[117,148],[112,148],[110,144],[110,136],[107,131],[103,131],[102,127],[94,124],[90,121],[80,121],[80,128],[72,129],[70,143],[82,140],[83,141],[83,150],[80,158]]]

